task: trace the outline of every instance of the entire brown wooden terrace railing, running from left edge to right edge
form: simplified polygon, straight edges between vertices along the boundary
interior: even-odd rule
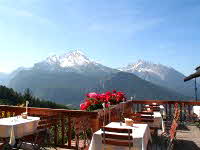
[[[145,104],[158,103],[165,107],[165,112],[168,116],[173,114],[173,108],[178,103],[181,110],[181,121],[187,121],[192,114],[192,106],[200,105],[200,102],[195,101],[166,101],[166,100],[129,100],[126,103],[121,103],[115,106],[111,106],[110,109],[97,110],[94,112],[86,112],[81,110],[65,110],[65,109],[50,109],[50,108],[28,108],[28,113],[31,116],[56,116],[56,121],[52,121],[51,129],[53,131],[52,137],[54,144],[59,147],[72,148],[74,120],[87,119],[88,127],[93,132],[100,129],[103,125],[113,121],[120,121],[122,118],[122,112],[130,113],[141,111],[141,108]],[[25,108],[17,106],[0,105],[0,118],[20,115],[25,112]],[[58,135],[59,134],[59,135]]]

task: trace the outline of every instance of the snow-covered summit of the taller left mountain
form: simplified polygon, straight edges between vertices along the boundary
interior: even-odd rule
[[[35,64],[34,68],[50,72],[109,73],[117,71],[90,60],[83,52],[78,50],[70,51],[60,56],[47,57],[44,61]]]

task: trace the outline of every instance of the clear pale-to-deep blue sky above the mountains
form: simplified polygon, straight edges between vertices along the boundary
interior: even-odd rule
[[[200,65],[199,0],[0,0],[0,72],[79,49],[110,67]]]

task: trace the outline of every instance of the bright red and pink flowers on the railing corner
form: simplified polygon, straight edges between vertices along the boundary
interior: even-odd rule
[[[126,100],[125,94],[123,92],[117,92],[113,90],[112,92],[107,91],[106,93],[97,94],[95,92],[88,93],[83,103],[80,104],[81,110],[92,111],[96,109],[103,108],[103,103],[105,107],[109,107],[109,104],[115,105]]]

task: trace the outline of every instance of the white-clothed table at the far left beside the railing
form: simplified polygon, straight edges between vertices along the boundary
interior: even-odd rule
[[[9,144],[14,145],[16,138],[33,134],[38,127],[39,120],[39,117],[31,116],[28,116],[27,119],[23,119],[21,116],[2,118],[0,119],[0,137],[10,137]]]

